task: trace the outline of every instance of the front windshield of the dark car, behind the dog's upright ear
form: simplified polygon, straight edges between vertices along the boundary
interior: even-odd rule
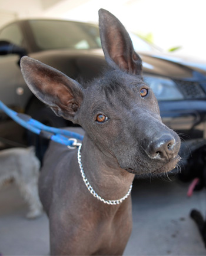
[[[72,21],[29,21],[39,50],[101,48],[99,28],[95,24]],[[130,34],[136,51],[154,48],[135,34]]]

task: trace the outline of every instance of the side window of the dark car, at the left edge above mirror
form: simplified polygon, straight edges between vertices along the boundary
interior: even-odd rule
[[[0,40],[22,47],[23,35],[17,24],[11,24],[0,31]]]

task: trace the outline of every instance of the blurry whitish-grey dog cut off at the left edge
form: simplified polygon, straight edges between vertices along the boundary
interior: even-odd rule
[[[42,214],[42,204],[38,195],[40,162],[34,147],[12,148],[0,151],[0,187],[9,179],[14,179],[21,195],[29,205],[26,218],[36,218]]]

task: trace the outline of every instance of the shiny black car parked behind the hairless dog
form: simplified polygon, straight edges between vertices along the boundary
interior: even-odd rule
[[[159,101],[163,122],[186,140],[206,137],[206,64],[165,54],[137,35],[131,38],[143,61],[145,81]],[[86,81],[105,68],[98,26],[82,22],[15,21],[0,30],[0,54],[0,100],[57,127],[72,124],[56,117],[33,96],[23,80],[19,58],[28,55]],[[17,142],[22,137],[15,134],[19,133],[17,126],[10,129],[11,120],[0,115],[1,137]]]

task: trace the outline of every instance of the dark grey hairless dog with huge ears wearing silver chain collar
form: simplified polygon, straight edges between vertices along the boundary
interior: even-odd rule
[[[132,229],[135,174],[169,172],[180,159],[180,137],[161,121],[128,32],[104,9],[99,32],[108,70],[90,83],[21,58],[35,96],[85,130],[78,149],[52,143],[44,157],[39,195],[51,255],[122,255]]]

